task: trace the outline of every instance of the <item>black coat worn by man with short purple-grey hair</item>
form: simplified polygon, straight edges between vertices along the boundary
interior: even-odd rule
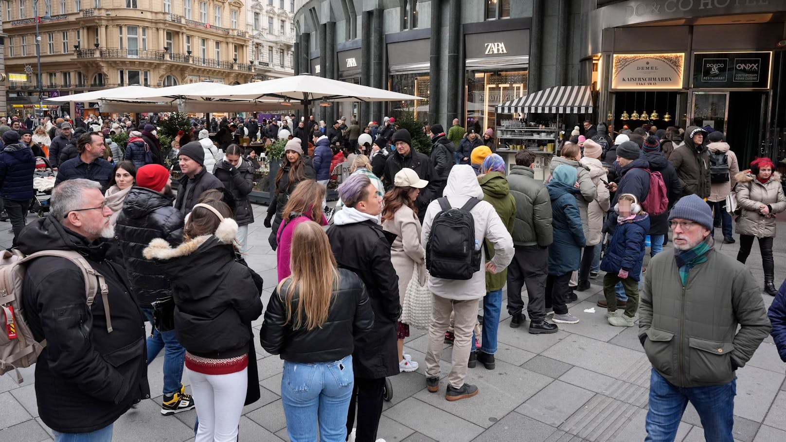
[[[401,316],[399,276],[391,263],[391,246],[382,227],[373,221],[340,224],[328,229],[330,248],[339,267],[354,271],[369,292],[374,326],[354,342],[352,366],[356,378],[378,379],[399,374],[395,322]]]

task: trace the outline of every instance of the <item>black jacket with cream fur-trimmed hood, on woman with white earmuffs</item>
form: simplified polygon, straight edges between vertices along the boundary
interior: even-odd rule
[[[230,220],[231,222],[231,220]],[[262,315],[262,300],[248,267],[235,260],[233,229],[204,235],[176,249],[161,238],[144,256],[172,282],[174,335],[192,355],[227,359],[248,352],[249,324]],[[249,359],[255,360],[254,355]]]

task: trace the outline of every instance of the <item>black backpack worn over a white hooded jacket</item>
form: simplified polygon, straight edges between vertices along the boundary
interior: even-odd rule
[[[480,202],[469,198],[461,208],[453,208],[440,197],[442,211],[434,217],[426,242],[426,268],[435,278],[467,280],[480,270],[480,247],[476,246],[475,218],[469,211]]]

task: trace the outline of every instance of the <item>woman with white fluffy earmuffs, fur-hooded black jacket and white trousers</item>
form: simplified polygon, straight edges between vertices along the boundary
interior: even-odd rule
[[[262,314],[261,288],[236,260],[236,235],[229,206],[211,199],[193,206],[182,245],[156,238],[144,252],[172,282],[174,333],[185,347],[200,441],[236,440],[254,388],[251,322]]]

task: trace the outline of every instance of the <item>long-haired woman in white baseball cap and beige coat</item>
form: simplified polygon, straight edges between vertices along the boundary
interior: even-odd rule
[[[382,228],[395,234],[391,243],[391,263],[399,275],[399,302],[404,305],[406,286],[410,284],[416,268],[419,277],[425,282],[426,251],[421,245],[421,222],[417,218],[414,201],[428,181],[420,179],[410,168],[403,168],[395,174],[393,188],[385,193],[382,209]],[[420,266],[420,267],[417,267]],[[410,336],[410,326],[396,322],[396,344],[399,346],[399,370],[414,371],[418,364],[410,355],[404,353],[404,338]]]

